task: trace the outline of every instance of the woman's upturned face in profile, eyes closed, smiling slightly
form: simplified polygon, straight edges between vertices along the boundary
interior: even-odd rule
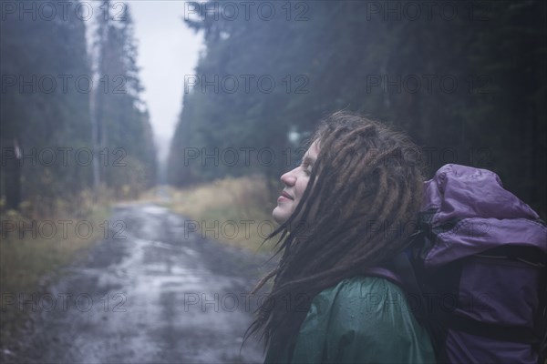
[[[294,209],[304,195],[305,187],[307,187],[318,154],[319,147],[317,140],[315,140],[305,152],[302,164],[281,177],[285,187],[281,196],[277,198],[277,207],[274,208],[272,213],[277,223],[283,224],[293,215]]]

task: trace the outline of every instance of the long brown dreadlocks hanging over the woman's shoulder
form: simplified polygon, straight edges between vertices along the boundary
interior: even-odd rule
[[[315,132],[319,154],[294,213],[278,237],[282,258],[254,292],[274,278],[245,339],[261,332],[284,345],[297,334],[311,298],[404,248],[416,227],[422,191],[418,148],[362,116],[337,112]],[[297,220],[296,220],[297,218]]]

